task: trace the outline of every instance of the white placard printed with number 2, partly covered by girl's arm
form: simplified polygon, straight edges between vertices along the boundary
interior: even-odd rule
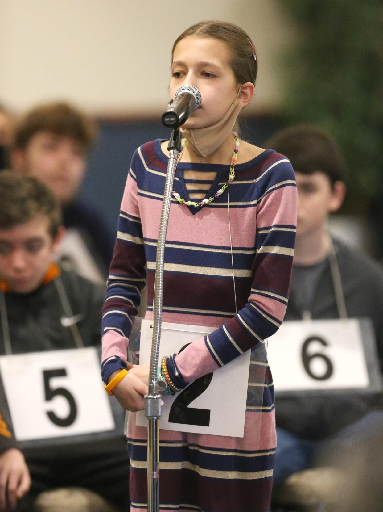
[[[140,364],[150,363],[152,322],[141,326]],[[163,323],[160,360],[178,353],[196,339],[215,328]],[[160,429],[243,437],[246,411],[247,381],[250,369],[250,350],[213,373],[192,382],[175,396],[164,396]],[[146,426],[143,411],[137,413],[136,424]]]

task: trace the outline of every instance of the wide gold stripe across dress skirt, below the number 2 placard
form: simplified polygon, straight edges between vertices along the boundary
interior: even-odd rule
[[[141,460],[130,460],[132,467],[137,469],[146,469],[147,462]],[[192,464],[187,460],[183,460],[181,462],[160,462],[160,470],[191,470],[195,471],[202,477],[210,477],[210,478],[220,478],[224,480],[257,480],[259,478],[266,478],[273,476],[273,470],[265,470],[265,471],[254,471],[254,472],[244,472],[244,471],[219,471],[219,470],[207,470],[204,467],[200,467],[197,464]]]

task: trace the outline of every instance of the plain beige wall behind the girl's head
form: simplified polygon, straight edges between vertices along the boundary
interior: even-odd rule
[[[281,51],[292,39],[278,0],[0,0],[0,102],[15,111],[66,99],[92,113],[155,115],[167,102],[170,50],[201,19],[253,38],[253,109],[278,109]]]

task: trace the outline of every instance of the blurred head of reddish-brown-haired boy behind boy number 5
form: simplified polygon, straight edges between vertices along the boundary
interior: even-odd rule
[[[16,127],[12,166],[46,184],[61,204],[71,203],[82,183],[94,135],[93,123],[74,106],[38,105]]]

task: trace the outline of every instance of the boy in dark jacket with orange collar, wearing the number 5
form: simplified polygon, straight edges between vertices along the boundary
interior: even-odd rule
[[[53,262],[63,236],[60,207],[52,191],[35,178],[0,173],[0,355],[100,344],[104,288]],[[97,360],[95,364],[98,369]],[[5,386],[4,374],[2,378]],[[82,385],[78,382],[80,389]],[[17,399],[21,398],[23,389],[16,391]],[[40,389],[36,389],[38,393]],[[9,431],[4,429],[2,441],[10,442],[4,436]],[[26,448],[17,443],[32,479],[22,506],[29,510],[30,502],[44,490],[75,485],[94,490],[126,509],[129,461],[122,410],[120,425],[108,436],[69,436],[67,443],[59,446],[50,440]],[[0,493],[4,502],[5,489],[8,485],[9,491],[12,481],[2,465],[3,457]],[[11,494],[11,503],[12,499]]]

